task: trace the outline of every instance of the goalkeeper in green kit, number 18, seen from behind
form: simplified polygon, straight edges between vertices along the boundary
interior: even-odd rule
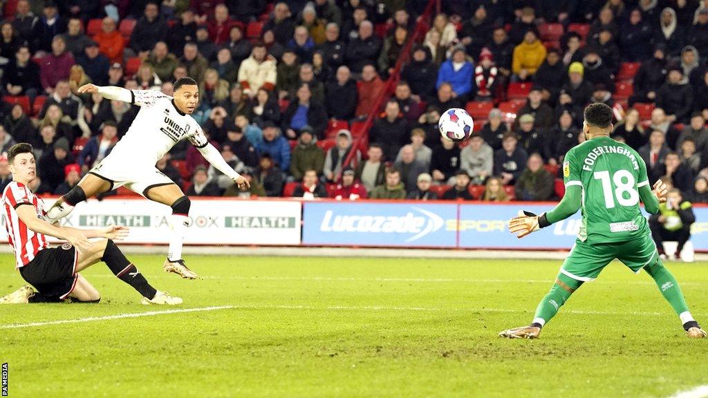
[[[535,339],[560,307],[583,283],[594,280],[617,258],[634,273],[642,269],[656,282],[661,295],[683,324],[690,338],[706,337],[691,316],[678,282],[661,263],[639,200],[646,211],[658,212],[666,201],[666,185],[657,181],[649,188],[646,164],[626,144],[610,138],[612,109],[603,103],[585,108],[583,133],[587,141],[571,149],[563,164],[566,194],[553,210],[542,215],[520,212],[509,222],[519,238],[582,209],[583,220],[576,244],[561,266],[551,291],[539,302],[530,326],[502,331],[499,336]]]

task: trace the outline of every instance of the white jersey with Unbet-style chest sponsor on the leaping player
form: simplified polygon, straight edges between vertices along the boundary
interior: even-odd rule
[[[178,110],[171,96],[155,90],[131,90],[130,93],[130,103],[140,110],[106,160],[152,167],[184,138],[195,147],[207,146],[202,127],[190,115]]]

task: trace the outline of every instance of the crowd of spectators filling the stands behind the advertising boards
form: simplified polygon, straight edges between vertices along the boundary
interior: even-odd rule
[[[38,193],[76,185],[139,110],[80,86],[171,95],[190,76],[193,117],[251,190],[180,142],[156,166],[188,195],[554,200],[603,102],[652,182],[708,202],[708,0],[0,4],[0,153],[33,144]],[[474,117],[467,142],[440,137],[448,108]]]

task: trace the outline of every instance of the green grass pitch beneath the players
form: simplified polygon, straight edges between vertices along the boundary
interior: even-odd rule
[[[4,294],[22,284],[5,264]],[[708,384],[708,341],[685,337],[649,275],[612,263],[536,341],[559,261],[187,258],[203,280],[130,256],[181,308],[212,312],[0,329],[10,397],[663,397]],[[707,263],[669,263],[708,324]],[[98,305],[0,306],[0,325],[161,311],[103,264]],[[0,326],[1,327],[1,326]]]

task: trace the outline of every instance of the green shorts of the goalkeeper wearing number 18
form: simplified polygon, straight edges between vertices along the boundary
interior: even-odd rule
[[[658,257],[656,244],[650,234],[626,242],[588,244],[576,241],[561,266],[561,273],[575,280],[594,280],[612,260],[617,258],[634,273],[651,265]]]

